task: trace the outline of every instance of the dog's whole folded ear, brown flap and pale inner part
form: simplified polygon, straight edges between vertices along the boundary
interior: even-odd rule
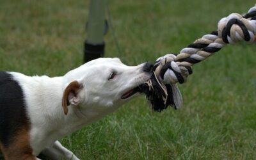
[[[80,103],[80,98],[77,96],[77,93],[82,88],[82,85],[78,81],[72,81],[68,84],[63,92],[62,97],[62,107],[65,115],[68,114],[68,105],[73,104],[77,106]]]

